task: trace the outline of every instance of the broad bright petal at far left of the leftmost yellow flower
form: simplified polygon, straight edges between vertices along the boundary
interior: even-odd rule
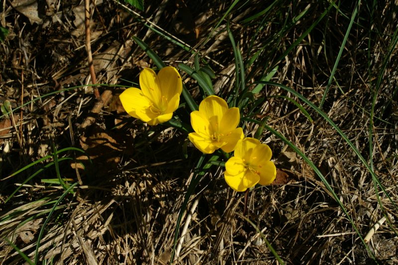
[[[154,118],[151,112],[148,112],[151,102],[144,96],[138,88],[128,88],[119,95],[120,102],[124,110],[132,117],[148,122]]]

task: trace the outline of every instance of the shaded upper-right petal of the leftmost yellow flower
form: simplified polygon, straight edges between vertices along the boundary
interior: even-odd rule
[[[176,94],[181,95],[183,82],[176,68],[172,66],[163,67],[158,73],[158,78],[162,96],[166,100],[170,101]]]

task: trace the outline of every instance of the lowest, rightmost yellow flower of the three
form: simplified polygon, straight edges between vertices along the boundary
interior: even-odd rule
[[[236,191],[245,191],[257,183],[271,184],[277,174],[271,156],[267,144],[255,138],[244,138],[236,145],[234,156],[225,163],[225,181]]]

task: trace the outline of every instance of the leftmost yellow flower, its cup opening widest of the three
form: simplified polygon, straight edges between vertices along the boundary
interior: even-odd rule
[[[124,110],[132,117],[149,125],[169,121],[180,104],[183,89],[180,74],[176,68],[162,68],[158,75],[145,68],[140,73],[140,87],[128,88],[119,98]]]

